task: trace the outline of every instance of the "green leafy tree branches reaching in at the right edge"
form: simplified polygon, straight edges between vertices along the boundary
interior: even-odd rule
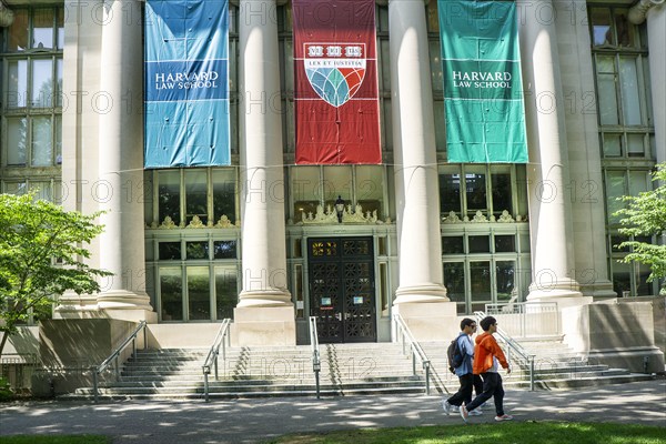
[[[653,173],[653,181],[660,181],[660,186],[653,191],[645,191],[637,196],[625,195],[622,198],[627,206],[615,214],[622,216],[619,223],[620,234],[640,236],[666,233],[666,163],[657,165]],[[630,248],[632,251],[619,262],[639,262],[650,268],[647,282],[666,278],[666,245],[655,245],[647,242],[625,241],[618,245],[620,249]],[[666,282],[662,284],[659,294],[666,294]]]

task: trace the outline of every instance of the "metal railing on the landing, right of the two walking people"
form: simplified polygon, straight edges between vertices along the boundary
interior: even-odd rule
[[[559,335],[557,302],[504,302],[486,304],[485,313],[495,316],[503,330],[517,337]]]

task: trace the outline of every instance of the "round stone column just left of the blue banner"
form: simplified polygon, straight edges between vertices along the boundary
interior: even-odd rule
[[[99,108],[99,182],[93,188],[104,232],[100,268],[113,276],[102,283],[99,309],[111,317],[154,321],[145,293],[141,2],[103,3]]]

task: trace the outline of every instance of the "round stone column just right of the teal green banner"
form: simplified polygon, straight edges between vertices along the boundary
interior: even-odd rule
[[[526,87],[529,164],[532,284],[527,301],[556,301],[559,307],[583,299],[574,275],[571,203],[566,199],[568,154],[562,81],[551,0],[518,0],[523,77]],[[588,300],[592,300],[589,297]]]

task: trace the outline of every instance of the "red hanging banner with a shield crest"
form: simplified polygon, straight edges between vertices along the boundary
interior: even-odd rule
[[[293,0],[296,163],[382,163],[375,0]]]

